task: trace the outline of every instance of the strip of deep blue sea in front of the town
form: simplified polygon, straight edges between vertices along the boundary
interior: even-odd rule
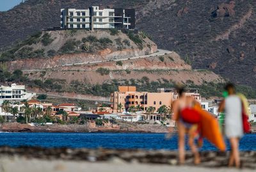
[[[140,148],[147,150],[177,150],[177,135],[170,140],[164,134],[140,133],[0,133],[0,146],[68,147],[68,148]],[[186,147],[188,149],[188,147]],[[227,148],[230,147],[227,142]],[[217,150],[204,141],[200,150]],[[240,150],[256,150],[256,134],[246,134]]]

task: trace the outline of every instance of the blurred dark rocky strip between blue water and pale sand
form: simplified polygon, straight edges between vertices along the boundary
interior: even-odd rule
[[[230,152],[200,152],[202,168],[225,168]],[[19,157],[25,159],[83,161],[83,162],[118,162],[138,164],[168,164],[177,166],[177,152],[168,150],[111,150],[87,148],[39,148],[39,147],[0,147],[1,157]],[[244,169],[256,169],[256,152],[241,152]],[[191,152],[186,154],[186,166],[193,164]]]

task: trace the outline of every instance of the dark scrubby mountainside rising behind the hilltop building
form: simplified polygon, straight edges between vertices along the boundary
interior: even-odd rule
[[[90,5],[135,8],[138,29],[152,35],[160,48],[190,59],[193,68],[256,86],[254,0],[28,0],[0,12],[0,47],[58,27],[60,8]]]

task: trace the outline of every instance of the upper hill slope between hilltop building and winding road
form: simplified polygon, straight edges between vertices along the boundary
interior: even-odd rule
[[[111,61],[152,54],[156,44],[145,33],[117,30],[44,31],[3,52],[8,69],[44,69],[83,62]]]

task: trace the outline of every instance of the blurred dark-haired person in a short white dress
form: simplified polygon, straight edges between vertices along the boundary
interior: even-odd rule
[[[228,83],[225,90],[227,90],[228,96],[220,103],[219,112],[225,111],[225,134],[231,145],[228,166],[234,166],[235,163],[236,167],[240,168],[239,140],[243,136],[243,106],[232,83]]]

